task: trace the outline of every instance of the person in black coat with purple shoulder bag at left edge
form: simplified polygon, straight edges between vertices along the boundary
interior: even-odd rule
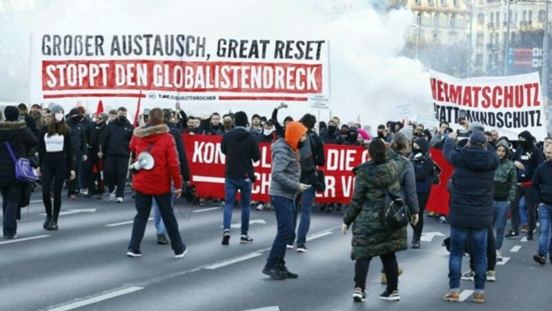
[[[5,239],[17,237],[16,215],[19,210],[19,200],[23,190],[23,182],[15,179],[15,163],[8,151],[6,142],[10,144],[16,159],[24,158],[26,150],[37,145],[37,138],[19,118],[15,106],[6,107],[5,122],[0,122],[0,193],[2,194],[3,235]]]

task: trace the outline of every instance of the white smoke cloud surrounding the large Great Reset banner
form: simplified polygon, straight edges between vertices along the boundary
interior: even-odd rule
[[[0,101],[28,101],[29,34],[184,33],[220,38],[327,39],[331,53],[331,113],[342,121],[375,127],[397,120],[397,105],[415,103],[429,111],[428,75],[422,64],[398,57],[404,33],[411,27],[410,10],[375,10],[366,1],[45,1],[44,8],[0,14],[14,27],[0,30],[0,42],[18,43],[19,50],[1,54],[0,75],[13,76],[0,85]],[[6,22],[6,23],[4,23]],[[15,48],[15,47],[14,47]],[[34,47],[39,48],[39,47]],[[10,50],[10,49],[8,49]],[[11,49],[13,51],[13,49]],[[8,58],[6,60],[6,58]],[[103,100],[117,107],[124,100]],[[83,100],[94,110],[96,100]],[[144,105],[153,105],[145,100]],[[270,116],[278,103],[231,103],[188,107],[199,116],[213,111],[245,110]],[[136,105],[132,100],[128,105]],[[129,109],[132,110],[132,107]],[[290,103],[279,116],[299,118],[305,104]],[[322,120],[329,111],[322,111]]]

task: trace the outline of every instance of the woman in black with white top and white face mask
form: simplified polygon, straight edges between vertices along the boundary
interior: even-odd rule
[[[61,190],[65,180],[75,180],[75,158],[69,128],[63,120],[65,114],[59,105],[50,107],[53,118],[39,134],[39,167],[42,175],[42,201],[46,209],[46,230],[57,230],[61,211]],[[54,206],[50,193],[54,186]]]

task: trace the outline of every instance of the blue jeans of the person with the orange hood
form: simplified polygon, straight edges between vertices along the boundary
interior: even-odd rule
[[[266,266],[285,266],[286,244],[295,235],[295,230],[293,230],[293,210],[295,209],[295,204],[293,204],[293,200],[291,199],[276,196],[270,196],[270,202],[272,202],[274,211],[276,212],[278,231],[272,248],[270,248]]]

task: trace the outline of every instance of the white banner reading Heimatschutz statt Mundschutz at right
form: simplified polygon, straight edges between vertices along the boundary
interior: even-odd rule
[[[538,72],[517,76],[460,79],[430,72],[435,120],[456,123],[465,110],[471,122],[482,122],[486,131],[517,140],[530,131],[537,140],[546,138],[546,115]]]

